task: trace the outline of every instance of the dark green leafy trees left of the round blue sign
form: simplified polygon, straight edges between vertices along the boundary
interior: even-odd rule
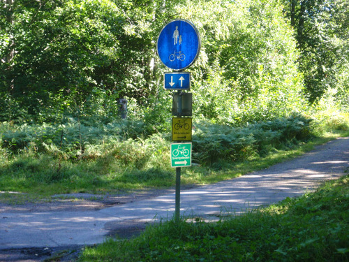
[[[147,106],[158,93],[155,39],[175,1],[8,1],[0,6],[0,57],[13,56],[1,59],[0,94],[25,114],[47,117],[71,105],[86,112],[105,104],[99,96]]]

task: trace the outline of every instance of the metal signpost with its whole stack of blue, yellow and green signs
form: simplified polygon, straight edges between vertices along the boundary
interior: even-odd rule
[[[156,43],[156,51],[158,57],[165,66],[178,71],[175,73],[164,74],[164,88],[168,90],[178,90],[176,99],[172,101],[172,115],[176,117],[188,117],[192,115],[192,96],[190,93],[183,93],[181,90],[189,90],[191,87],[191,74],[182,72],[185,68],[191,66],[198,59],[201,48],[201,40],[198,29],[187,20],[173,20],[163,27],[158,41]],[[190,106],[187,106],[188,99]],[[183,102],[186,105],[183,106]],[[177,103],[177,105],[176,105]],[[177,109],[177,110],[176,110]],[[191,140],[191,126],[187,120],[179,120],[173,124],[172,140],[181,141]],[[189,120],[191,122],[191,119]],[[183,126],[183,129],[182,129]],[[181,135],[174,139],[175,135]],[[180,219],[180,194],[181,194],[181,166],[191,166],[191,143],[172,143],[171,144],[171,166],[176,168],[176,203],[174,219],[178,223]]]

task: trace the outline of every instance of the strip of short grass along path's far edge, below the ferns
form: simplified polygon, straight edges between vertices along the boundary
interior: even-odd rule
[[[347,132],[347,133],[346,133]],[[307,143],[293,144],[281,150],[272,149],[264,157],[254,155],[244,161],[217,161],[211,166],[183,168],[181,184],[211,184],[246,173],[261,170],[275,163],[292,159],[339,136],[349,136],[348,131],[327,133]],[[56,159],[47,154],[22,154],[3,162],[0,166],[0,191],[17,191],[22,194],[0,194],[3,203],[37,202],[54,194],[117,193],[142,188],[173,187],[175,171],[166,165],[170,157],[164,154],[159,167],[132,166],[120,168],[114,157],[71,161]],[[166,160],[167,159],[167,160]]]

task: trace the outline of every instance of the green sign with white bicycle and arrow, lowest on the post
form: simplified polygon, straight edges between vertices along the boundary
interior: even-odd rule
[[[191,166],[191,143],[171,144],[171,166],[172,168]]]

